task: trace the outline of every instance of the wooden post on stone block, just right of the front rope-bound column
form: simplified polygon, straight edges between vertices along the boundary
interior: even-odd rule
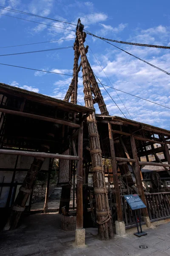
[[[112,171],[113,171],[114,191],[115,191],[115,197],[116,197],[117,220],[123,221],[122,207],[121,207],[121,201],[120,201],[119,181],[118,181],[117,166],[116,166],[116,157],[115,157],[114,142],[113,142],[113,133],[112,133],[112,127],[110,122],[108,122],[108,131],[109,131],[109,140],[110,140],[110,147],[111,147],[111,163],[112,163]]]

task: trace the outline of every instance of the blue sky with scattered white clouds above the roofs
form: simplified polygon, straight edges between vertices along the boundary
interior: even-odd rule
[[[85,25],[85,29],[106,38],[170,46],[170,1],[168,0],[165,0],[164,4],[158,0],[0,0],[0,6],[70,23],[77,23],[78,18],[80,18]],[[2,9],[0,9],[0,13],[67,29],[75,29],[75,26],[65,23],[8,12]],[[3,15],[0,15],[0,34],[0,47],[75,37],[73,31]],[[1,48],[0,55],[66,47],[73,44],[74,39],[70,39],[55,43]],[[87,44],[94,52],[113,87],[170,107],[170,76],[90,35],[87,35],[85,46]],[[114,44],[170,72],[169,49]],[[74,50],[61,49],[24,55],[1,56],[0,58],[0,63],[72,74]],[[88,59],[100,81],[111,86],[90,49]],[[79,75],[81,76],[81,72]],[[71,82],[71,77],[0,65],[0,82],[62,99]],[[84,105],[81,78],[78,86],[78,101]],[[102,87],[100,88],[109,114],[122,116],[122,113],[105,90]],[[113,89],[107,88],[107,90],[127,118],[131,119],[122,102],[133,120],[170,129],[169,109],[118,92],[122,99],[121,102]],[[95,105],[95,108],[96,112],[99,113],[97,105]]]

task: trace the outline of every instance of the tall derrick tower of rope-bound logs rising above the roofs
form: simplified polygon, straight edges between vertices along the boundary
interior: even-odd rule
[[[99,105],[101,114],[108,116],[108,111],[101,91],[86,56],[88,47],[85,48],[84,46],[86,33],[83,31],[83,28],[84,26],[81,24],[81,21],[78,20],[76,40],[74,43],[74,75],[64,100],[69,101],[71,97],[71,102],[77,104],[78,73],[80,67],[82,67],[85,106],[88,108],[94,108],[95,101]],[[81,62],[78,66],[79,56],[81,57]],[[94,99],[92,98],[92,93],[94,94]],[[112,218],[108,202],[108,192],[105,185],[104,170],[102,166],[102,151],[100,148],[99,133],[94,112],[87,117],[87,125],[93,172],[93,186],[96,196],[96,215],[97,222],[99,224],[99,236],[101,239],[109,239],[113,237]],[[116,183],[119,191],[118,182]]]

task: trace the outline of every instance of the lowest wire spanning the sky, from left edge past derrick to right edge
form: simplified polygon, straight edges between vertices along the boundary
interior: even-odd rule
[[[4,63],[0,63],[0,65],[9,66],[9,67],[19,67],[19,68],[23,68],[23,69],[41,71],[41,72],[45,72],[45,73],[58,74],[58,75],[63,75],[63,76],[72,76],[72,75],[69,75],[69,74],[57,73],[57,72],[52,72],[52,71],[47,71],[47,70],[38,70],[38,69],[34,69],[34,68],[29,68],[29,67],[20,67],[20,66],[15,66],[15,65],[10,65],[10,64],[4,64]],[[94,75],[95,75],[95,74],[94,74]],[[96,75],[95,75],[95,76],[96,76]],[[78,76],[78,77],[79,77],[79,78],[82,78],[82,76]],[[97,78],[97,76],[96,76],[96,78]],[[97,78],[97,79],[98,79],[98,78]],[[99,81],[99,79],[98,79],[98,81]],[[149,99],[144,99],[144,98],[142,98],[142,97],[140,97],[140,96],[136,96],[136,95],[134,95],[134,94],[127,93],[127,92],[125,92],[125,91],[122,91],[122,90],[113,88],[113,87],[111,87],[111,86],[109,86],[109,85],[102,84],[100,81],[99,81],[99,84],[101,84],[102,87],[106,86],[106,87],[108,87],[108,88],[115,89],[115,90],[117,90],[117,91],[119,91],[119,92],[126,93],[126,94],[128,94],[128,95],[133,96],[133,97],[136,97],[136,98],[139,98],[139,99],[143,99],[143,100],[145,100],[145,101],[147,101],[147,102],[150,102],[150,103],[159,105],[159,106],[161,106],[161,107],[170,109],[170,108],[167,107],[167,106],[164,106],[164,105],[161,105],[161,104],[159,104],[159,103],[153,102],[153,101],[151,101],[151,100],[149,100]],[[105,89],[105,88],[104,88],[104,89]]]

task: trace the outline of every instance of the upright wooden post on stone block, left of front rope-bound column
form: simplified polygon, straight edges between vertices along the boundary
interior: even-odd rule
[[[78,136],[78,156],[77,163],[77,219],[76,228],[83,228],[83,202],[82,202],[82,151],[83,151],[83,123],[80,124]]]

